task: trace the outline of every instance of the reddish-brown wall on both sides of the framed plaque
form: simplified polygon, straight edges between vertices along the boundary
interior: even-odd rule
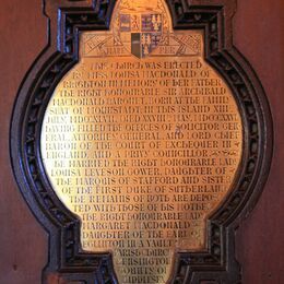
[[[269,181],[237,232],[244,284],[284,283],[284,2],[238,0],[234,43],[257,71],[275,130]],[[48,238],[29,212],[12,175],[9,128],[21,82],[47,44],[40,0],[0,1],[0,283],[40,283]]]

